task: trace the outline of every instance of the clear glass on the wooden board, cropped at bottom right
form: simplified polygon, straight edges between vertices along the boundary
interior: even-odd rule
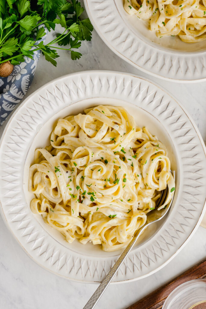
[[[206,308],[206,279],[181,284],[167,297],[162,309]]]

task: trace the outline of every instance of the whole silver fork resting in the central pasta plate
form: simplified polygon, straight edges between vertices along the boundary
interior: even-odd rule
[[[175,180],[175,172],[173,171],[173,177]],[[120,268],[120,266],[122,265],[124,259],[128,256],[128,253],[131,251],[131,249],[133,248],[136,240],[139,238],[139,236],[141,235],[141,233],[151,224],[153,224],[154,222],[157,222],[159,220],[161,220],[166,213],[168,212],[168,210],[170,209],[170,206],[172,204],[174,195],[170,201],[170,203],[166,206],[166,208],[164,207],[164,209],[162,210],[157,210],[157,207],[161,206],[164,204],[164,201],[166,201],[166,197],[168,195],[168,186],[166,187],[165,190],[162,191],[161,196],[159,198],[159,201],[156,205],[155,210],[152,210],[149,212],[149,214],[147,215],[147,221],[145,223],[144,226],[142,226],[139,230],[137,230],[137,232],[134,234],[134,237],[132,238],[132,240],[130,241],[130,243],[128,244],[128,246],[124,249],[124,251],[122,252],[122,254],[120,255],[120,257],[118,258],[118,260],[116,261],[116,263],[114,264],[114,266],[112,266],[111,270],[107,273],[106,277],[103,279],[103,281],[100,283],[100,285],[98,286],[98,288],[96,289],[95,293],[92,295],[92,297],[89,299],[89,301],[86,303],[86,305],[84,306],[83,309],[93,309],[97,302],[99,301],[99,298],[102,296],[102,294],[104,293],[104,291],[106,290],[107,286],[109,285],[109,283],[111,282],[112,278],[114,277],[114,275],[116,274],[117,270]],[[155,215],[158,215],[158,219],[156,220],[152,220]]]

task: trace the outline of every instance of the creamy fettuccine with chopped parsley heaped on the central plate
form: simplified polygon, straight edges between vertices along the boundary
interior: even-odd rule
[[[59,119],[51,144],[35,150],[31,210],[71,243],[78,238],[105,251],[125,247],[168,184],[166,147],[122,107],[99,105]]]

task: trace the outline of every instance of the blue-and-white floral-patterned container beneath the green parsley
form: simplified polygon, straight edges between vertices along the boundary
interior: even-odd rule
[[[45,38],[46,35],[40,41]],[[35,51],[33,59],[24,57],[25,61],[15,65],[8,77],[0,78],[0,126],[31,86],[40,53],[40,50]]]

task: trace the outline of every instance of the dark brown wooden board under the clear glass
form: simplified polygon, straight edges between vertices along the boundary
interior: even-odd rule
[[[199,264],[188,269],[169,283],[161,286],[149,295],[140,299],[137,303],[129,306],[127,309],[161,309],[167,296],[180,284],[194,280],[206,278],[206,259]]]

